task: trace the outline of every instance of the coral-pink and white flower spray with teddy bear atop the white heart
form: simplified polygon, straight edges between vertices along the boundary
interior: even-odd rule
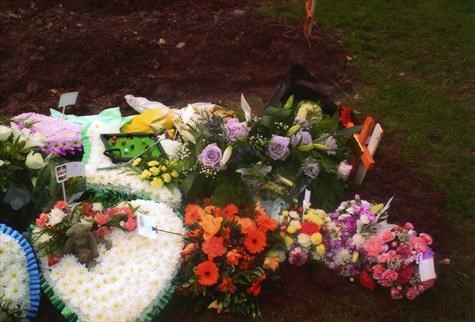
[[[126,231],[137,228],[135,210],[128,203],[105,209],[101,203],[83,202],[70,207],[58,201],[49,213],[41,213],[36,219],[32,238],[49,265],[67,253],[88,264],[97,257],[96,240],[102,241],[113,227]]]

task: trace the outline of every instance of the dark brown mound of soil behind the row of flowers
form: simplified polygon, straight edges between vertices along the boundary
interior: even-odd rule
[[[309,49],[300,24],[265,21],[255,1],[11,0],[0,18],[0,107],[9,115],[46,113],[67,91],[80,92],[75,114],[127,112],[126,94],[169,105],[266,98],[289,60],[304,62],[323,91],[350,85],[335,37],[316,27]]]

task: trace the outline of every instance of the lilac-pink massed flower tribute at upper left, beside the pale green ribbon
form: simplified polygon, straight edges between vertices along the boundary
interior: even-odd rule
[[[13,118],[21,128],[46,137],[42,152],[56,155],[73,155],[82,151],[81,126],[70,121],[37,113],[23,113]]]

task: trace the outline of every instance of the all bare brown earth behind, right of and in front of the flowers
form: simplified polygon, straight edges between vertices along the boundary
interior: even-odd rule
[[[286,75],[289,62],[303,62],[333,97],[351,91],[347,52],[338,39],[317,26],[312,49],[300,25],[264,21],[250,0],[65,0],[0,2],[0,112],[47,113],[58,94],[80,92],[75,114],[120,106],[134,94],[166,104],[237,101],[241,92],[267,98]],[[160,45],[160,38],[166,44]],[[176,45],[184,42],[182,48]],[[442,254],[454,236],[442,229],[445,197],[430,182],[411,172],[396,145],[386,137],[377,165],[360,193],[385,201],[394,193],[392,220],[413,222],[433,235]],[[348,194],[351,197],[352,193]],[[264,291],[264,316],[279,319],[297,303],[317,318],[322,303],[345,305],[341,296],[357,298],[366,290],[316,266],[284,267],[279,286]],[[387,290],[377,291],[368,312],[391,311],[397,305]],[[163,321],[233,320],[213,313],[194,315],[175,296],[160,316]],[[302,311],[299,312],[302,314]],[[38,321],[64,321],[46,298]]]

